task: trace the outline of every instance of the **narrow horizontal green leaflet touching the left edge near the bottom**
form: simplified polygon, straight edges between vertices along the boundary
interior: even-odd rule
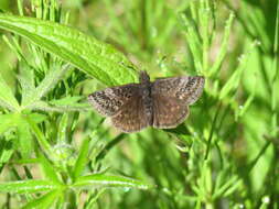
[[[51,180],[18,180],[0,183],[0,193],[33,194],[60,188]]]

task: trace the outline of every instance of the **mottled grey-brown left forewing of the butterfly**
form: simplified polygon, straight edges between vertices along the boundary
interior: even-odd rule
[[[120,111],[122,106],[131,102],[131,98],[138,95],[139,90],[139,84],[111,87],[89,95],[88,101],[98,113],[105,117],[112,117]]]

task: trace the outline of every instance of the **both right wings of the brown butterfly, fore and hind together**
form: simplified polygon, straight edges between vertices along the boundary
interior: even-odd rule
[[[189,114],[187,106],[200,98],[203,86],[204,78],[200,76],[155,80],[151,91],[153,127],[171,129],[183,122]]]

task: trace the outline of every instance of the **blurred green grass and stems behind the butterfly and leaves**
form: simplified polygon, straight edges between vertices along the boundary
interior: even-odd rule
[[[22,14],[19,2],[1,0],[0,9]],[[29,16],[53,6],[58,14],[55,22],[66,22],[114,45],[152,79],[206,77],[202,98],[174,130],[150,128],[124,134],[93,110],[46,111],[40,129],[53,151],[61,147],[62,128],[67,144],[63,147],[74,153],[71,157],[78,155],[82,141],[90,135],[88,170],[108,170],[155,185],[147,190],[88,188],[74,193],[72,208],[279,208],[279,1],[25,0],[22,6]],[[4,41],[10,35],[4,30],[0,33],[4,35],[0,73],[20,100],[18,78],[24,65]],[[24,38],[20,44],[22,56],[35,68],[36,84],[45,73],[39,70],[42,57],[37,55],[49,57],[50,66],[61,66],[61,61],[40,47],[32,48]],[[45,97],[86,97],[105,87],[73,68]],[[37,111],[42,110],[33,112]],[[7,110],[0,108],[0,112]],[[25,151],[24,143],[17,144],[21,135],[10,130],[0,136],[1,182],[41,176],[36,164],[28,162],[39,156],[39,145]],[[34,136],[28,133],[26,138]],[[53,156],[49,153],[47,158]],[[32,198],[2,194],[1,208],[15,208]]]

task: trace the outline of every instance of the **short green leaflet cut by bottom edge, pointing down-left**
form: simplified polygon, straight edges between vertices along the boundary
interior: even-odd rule
[[[55,199],[57,199],[62,195],[62,189],[53,190],[50,191],[45,195],[42,195],[37,199],[34,199],[30,202],[28,202],[23,209],[34,209],[34,208],[40,208],[40,209],[49,209],[52,208],[53,204],[55,204]]]

